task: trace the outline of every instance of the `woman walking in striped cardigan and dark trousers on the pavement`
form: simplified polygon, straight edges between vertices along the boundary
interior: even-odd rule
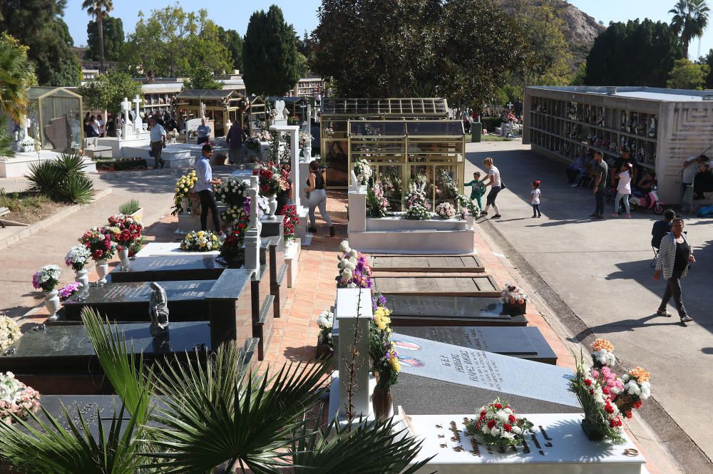
[[[693,249],[688,243],[688,238],[683,233],[683,227],[683,220],[680,217],[675,217],[671,232],[661,239],[659,254],[656,258],[654,280],[661,279],[662,274],[666,280],[666,291],[656,314],[671,317],[671,314],[666,310],[666,306],[671,297],[673,297],[681,322],[688,323],[693,319],[687,314],[686,308],[683,306],[681,279],[688,273],[689,262],[694,263],[696,259],[693,257]]]

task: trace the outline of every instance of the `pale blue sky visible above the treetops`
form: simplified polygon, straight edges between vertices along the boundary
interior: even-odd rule
[[[467,0],[463,0],[467,1]],[[212,21],[225,29],[234,29],[245,34],[250,15],[256,10],[267,10],[270,5],[277,4],[284,14],[287,23],[294,26],[295,31],[302,36],[305,30],[312,31],[318,23],[317,8],[320,0],[201,0],[178,2],[184,9],[198,10],[205,8]],[[570,0],[570,4],[578,7],[597,21],[608,25],[610,21],[627,21],[629,19],[649,18],[655,21],[670,21],[668,11],[674,5],[674,0]],[[68,0],[64,12],[64,21],[69,26],[69,32],[74,38],[74,45],[86,44],[86,28],[89,17],[81,9],[82,0]],[[148,15],[152,9],[161,9],[172,4],[170,0],[116,0],[112,16],[122,19],[125,34],[133,31],[138,19],[138,11]],[[713,2],[709,1],[713,8]],[[700,54],[705,55],[713,48],[713,15],[710,26],[704,32],[700,42]],[[698,58],[699,41],[694,41],[689,54],[692,59]]]

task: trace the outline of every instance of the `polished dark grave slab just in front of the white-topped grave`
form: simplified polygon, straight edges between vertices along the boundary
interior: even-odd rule
[[[128,272],[122,272],[120,267],[116,267],[107,279],[112,283],[214,280],[220,277],[226,267],[210,255],[137,257],[131,262]]]

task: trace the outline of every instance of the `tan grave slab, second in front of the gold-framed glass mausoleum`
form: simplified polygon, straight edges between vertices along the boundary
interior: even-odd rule
[[[371,277],[376,291],[405,296],[497,298],[500,290],[490,275],[476,277]]]

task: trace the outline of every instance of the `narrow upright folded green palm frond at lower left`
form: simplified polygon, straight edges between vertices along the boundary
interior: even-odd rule
[[[82,321],[106,377],[121,398],[126,410],[139,425],[145,425],[150,414],[153,373],[144,368],[143,354],[135,354],[133,344],[116,324],[103,324],[93,309],[82,311]]]

